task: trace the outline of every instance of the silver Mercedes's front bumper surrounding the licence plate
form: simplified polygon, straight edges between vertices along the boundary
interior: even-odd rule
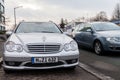
[[[51,69],[51,68],[77,66],[79,63],[79,54],[68,55],[68,56],[54,56],[54,57],[58,57],[59,61],[57,63],[44,63],[44,64],[32,64],[31,57],[4,57],[3,68],[15,69],[15,70]]]

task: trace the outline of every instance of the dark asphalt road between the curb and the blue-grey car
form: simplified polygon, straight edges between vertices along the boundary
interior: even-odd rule
[[[103,56],[96,55],[92,50],[80,48],[80,61],[104,75],[120,80],[120,54],[107,52]]]

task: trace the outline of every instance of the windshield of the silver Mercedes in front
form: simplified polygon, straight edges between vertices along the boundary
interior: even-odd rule
[[[16,33],[61,33],[60,29],[49,22],[25,22],[16,29]]]

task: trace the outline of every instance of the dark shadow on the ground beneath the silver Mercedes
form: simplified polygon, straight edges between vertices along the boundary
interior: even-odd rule
[[[14,70],[10,73],[5,73],[6,75],[51,75],[51,74],[63,74],[63,73],[74,73],[75,70],[69,68],[56,68],[56,69],[43,69],[43,70]]]

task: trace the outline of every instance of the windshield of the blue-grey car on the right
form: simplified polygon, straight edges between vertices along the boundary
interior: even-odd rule
[[[95,23],[93,27],[96,31],[120,30],[120,27],[114,23]]]

